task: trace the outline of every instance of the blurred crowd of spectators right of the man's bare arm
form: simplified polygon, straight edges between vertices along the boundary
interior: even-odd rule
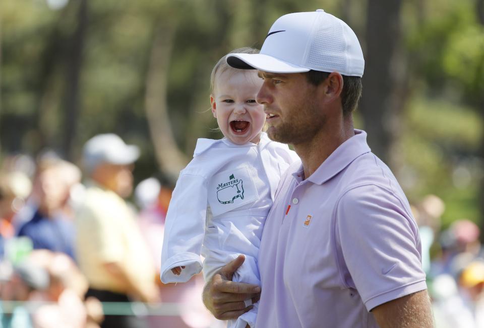
[[[435,195],[412,206],[437,328],[484,328],[484,254],[480,229],[468,219],[441,226],[444,202]]]

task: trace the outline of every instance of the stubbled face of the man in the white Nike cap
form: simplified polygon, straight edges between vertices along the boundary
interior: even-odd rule
[[[264,83],[257,102],[264,105],[269,126],[267,134],[274,141],[302,144],[312,140],[325,123],[316,93],[303,73],[259,72]]]

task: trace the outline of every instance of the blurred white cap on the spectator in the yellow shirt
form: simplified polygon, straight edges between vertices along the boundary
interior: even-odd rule
[[[113,133],[98,134],[84,145],[83,160],[88,171],[92,171],[102,162],[115,165],[129,165],[140,156],[136,145],[127,145],[123,139]]]

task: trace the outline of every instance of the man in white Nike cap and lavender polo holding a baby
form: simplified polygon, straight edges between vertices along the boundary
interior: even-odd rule
[[[409,204],[366,133],[353,129],[364,71],[354,32],[323,10],[293,13],[274,23],[260,54],[227,62],[259,69],[267,133],[302,161],[281,180],[264,227],[256,327],[433,326]],[[230,281],[243,261],[206,285],[217,318],[258,299],[258,286]]]

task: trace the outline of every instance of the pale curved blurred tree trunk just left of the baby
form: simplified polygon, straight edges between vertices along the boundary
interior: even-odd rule
[[[173,138],[167,109],[166,90],[173,30],[172,24],[161,24],[155,30],[146,78],[145,109],[159,168],[164,174],[176,177],[188,160]]]

